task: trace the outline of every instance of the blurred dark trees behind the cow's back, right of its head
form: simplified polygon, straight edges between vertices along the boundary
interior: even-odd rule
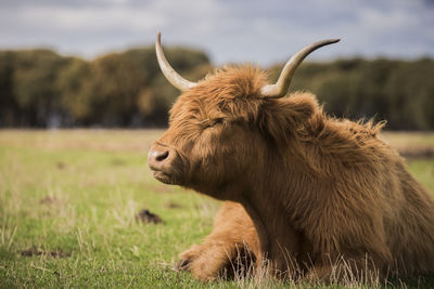
[[[270,70],[276,80],[281,65]],[[336,117],[387,120],[394,130],[434,129],[434,61],[361,58],[304,63],[291,91],[307,90]]]

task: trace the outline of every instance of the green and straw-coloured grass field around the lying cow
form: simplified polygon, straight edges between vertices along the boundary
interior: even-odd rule
[[[210,232],[219,202],[152,178],[146,154],[161,133],[0,131],[0,287],[255,287],[201,284],[173,270],[178,253]],[[399,148],[434,148],[434,133],[384,137]],[[434,159],[408,166],[434,192]],[[142,209],[164,223],[140,222]]]

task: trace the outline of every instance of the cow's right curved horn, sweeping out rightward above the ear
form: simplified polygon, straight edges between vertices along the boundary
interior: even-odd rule
[[[328,44],[336,43],[341,39],[328,39],[314,42],[310,45],[302,49],[296,54],[294,54],[285,64],[282,73],[279,76],[276,84],[267,84],[260,89],[260,93],[264,98],[279,98],[286,94],[288,88],[290,87],[291,79],[294,76],[295,69],[303,62],[303,60],[309,55],[310,52]]]

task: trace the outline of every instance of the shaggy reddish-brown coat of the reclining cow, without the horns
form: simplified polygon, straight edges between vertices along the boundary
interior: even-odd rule
[[[433,198],[379,137],[383,124],[330,118],[309,93],[264,100],[264,84],[251,66],[207,77],[151,148],[159,181],[242,205],[224,205],[183,267],[214,279],[246,244],[279,276],[327,280],[340,260],[356,275],[434,273]]]

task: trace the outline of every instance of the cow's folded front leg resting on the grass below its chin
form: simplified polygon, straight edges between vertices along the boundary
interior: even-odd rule
[[[241,205],[225,202],[204,242],[179,257],[178,268],[190,271],[201,280],[245,274],[260,258],[256,229]]]

